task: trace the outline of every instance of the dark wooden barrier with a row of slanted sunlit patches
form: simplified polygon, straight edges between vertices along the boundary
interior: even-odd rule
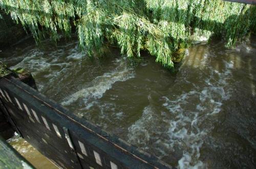
[[[0,79],[0,98],[15,130],[61,168],[172,168],[13,77]]]

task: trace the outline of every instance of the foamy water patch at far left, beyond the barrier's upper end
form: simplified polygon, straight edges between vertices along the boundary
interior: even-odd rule
[[[39,91],[42,91],[47,85],[41,85],[40,79],[44,78],[49,83],[59,80],[59,77],[65,77],[72,66],[80,65],[79,60],[82,58],[83,54],[79,51],[78,44],[74,42],[66,46],[52,47],[48,51],[38,47],[24,53],[23,60],[11,69],[25,68],[32,72],[35,78],[38,76],[37,87]]]

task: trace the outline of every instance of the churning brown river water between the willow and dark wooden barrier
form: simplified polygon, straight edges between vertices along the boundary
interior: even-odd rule
[[[256,167],[256,37],[187,49],[178,73],[154,57],[135,67],[117,49],[91,61],[77,40],[32,39],[0,52],[39,91],[178,168]]]

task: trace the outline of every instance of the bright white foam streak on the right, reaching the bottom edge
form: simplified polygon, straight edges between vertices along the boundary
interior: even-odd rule
[[[200,160],[200,148],[205,135],[210,132],[211,128],[210,125],[208,127],[205,124],[204,127],[200,125],[207,123],[205,120],[211,118],[209,116],[218,114],[221,111],[222,102],[229,99],[230,91],[225,90],[224,87],[230,79],[232,68],[232,62],[225,63],[225,71],[220,73],[213,69],[212,75],[205,80],[204,87],[194,88],[172,99],[163,97],[165,99],[163,106],[175,115],[175,118],[170,120],[169,143],[173,146],[179,145],[184,149],[178,168],[204,167]],[[199,102],[189,105],[191,99],[198,99]],[[195,108],[189,106],[195,106]]]

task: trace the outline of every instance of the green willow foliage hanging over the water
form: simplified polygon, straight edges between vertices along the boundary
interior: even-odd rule
[[[221,37],[228,47],[255,31],[256,7],[221,0],[0,0],[0,7],[38,42],[76,26],[79,44],[93,56],[108,42],[128,58],[140,51],[173,68],[193,39]]]

